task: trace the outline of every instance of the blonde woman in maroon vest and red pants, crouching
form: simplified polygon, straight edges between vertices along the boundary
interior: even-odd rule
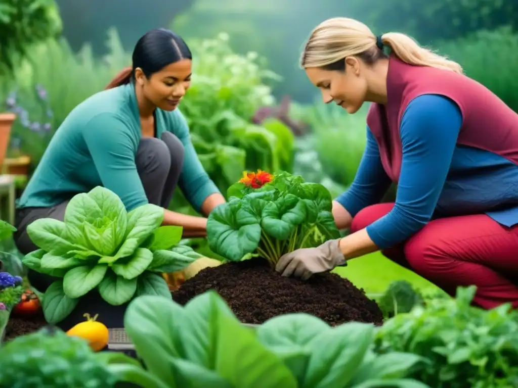
[[[452,295],[477,286],[482,308],[518,307],[518,114],[457,63],[348,18],[313,30],[301,66],[324,102],[372,104],[355,180],[333,202],[351,233],[277,271],[307,279],[381,249]],[[379,203],[391,182],[395,203]]]

